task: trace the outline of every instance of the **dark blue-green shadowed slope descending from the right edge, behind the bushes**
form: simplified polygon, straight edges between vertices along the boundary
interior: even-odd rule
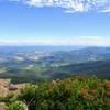
[[[50,69],[51,70],[51,69]],[[80,63],[80,64],[70,64],[67,66],[61,66],[58,68],[53,68],[52,72],[61,73],[59,75],[95,75],[99,78],[110,79],[110,59],[99,61],[91,63]],[[63,74],[65,73],[65,74]],[[105,73],[105,74],[103,74]],[[57,78],[58,78],[57,74]]]

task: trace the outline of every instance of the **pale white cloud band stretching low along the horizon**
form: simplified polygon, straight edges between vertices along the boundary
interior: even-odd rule
[[[82,45],[110,46],[110,37],[80,36],[73,38],[0,40],[0,45]]]

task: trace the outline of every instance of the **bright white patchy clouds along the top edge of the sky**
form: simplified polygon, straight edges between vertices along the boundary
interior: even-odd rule
[[[110,12],[110,0],[9,0],[23,2],[30,7],[58,7],[63,8],[66,13],[72,12]]]

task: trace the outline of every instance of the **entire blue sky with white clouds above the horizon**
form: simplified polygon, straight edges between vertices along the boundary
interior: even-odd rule
[[[110,46],[110,0],[0,0],[0,45]]]

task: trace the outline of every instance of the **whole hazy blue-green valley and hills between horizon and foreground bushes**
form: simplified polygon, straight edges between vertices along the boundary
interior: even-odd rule
[[[110,47],[57,47],[44,51],[35,46],[0,46],[0,78],[25,82],[87,74],[110,79]]]

